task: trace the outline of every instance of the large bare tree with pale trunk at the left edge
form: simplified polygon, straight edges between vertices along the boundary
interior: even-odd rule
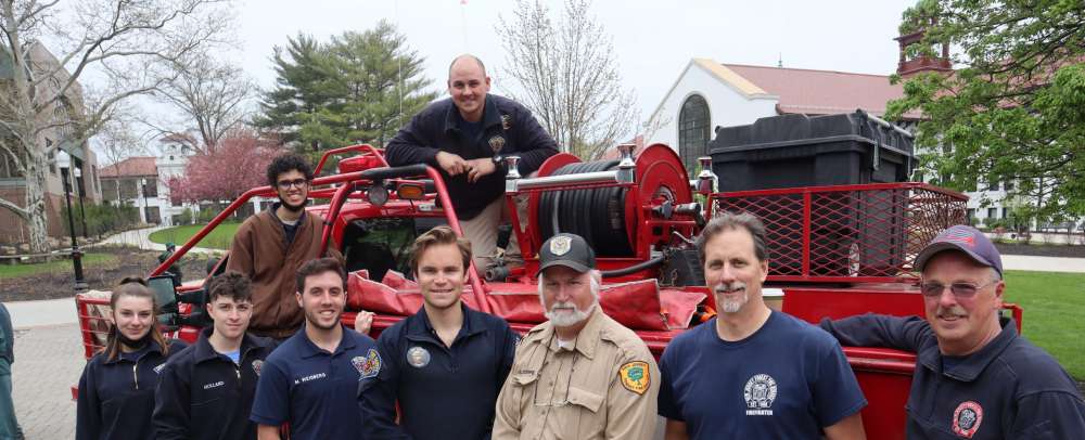
[[[10,135],[0,148],[26,179],[24,206],[2,200],[0,207],[26,221],[34,251],[48,250],[50,153],[85,145],[118,117],[125,102],[173,80],[174,64],[219,44],[232,28],[232,15],[219,8],[228,9],[229,0],[79,0],[63,3],[63,10],[60,4],[0,0],[0,40],[12,62],[0,94],[0,128]],[[90,75],[105,79],[85,89],[80,82]]]

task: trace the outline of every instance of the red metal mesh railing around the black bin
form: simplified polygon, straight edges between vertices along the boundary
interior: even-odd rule
[[[712,212],[765,223],[769,281],[908,283],[919,250],[965,223],[967,202],[926,183],[873,183],[719,193]]]

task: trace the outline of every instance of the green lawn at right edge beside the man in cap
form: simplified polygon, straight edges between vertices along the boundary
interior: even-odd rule
[[[1085,273],[1006,271],[1004,295],[1024,309],[1024,336],[1085,380]]]

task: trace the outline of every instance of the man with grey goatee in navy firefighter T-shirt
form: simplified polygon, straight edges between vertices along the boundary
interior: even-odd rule
[[[682,333],[660,359],[666,439],[863,439],[867,401],[831,336],[770,310],[765,227],[714,218],[697,240],[719,315]]]

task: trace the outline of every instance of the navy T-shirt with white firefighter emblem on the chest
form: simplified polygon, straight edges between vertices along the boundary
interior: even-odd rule
[[[745,339],[715,318],[678,335],[660,360],[660,415],[690,439],[816,439],[867,405],[844,352],[805,321],[773,311]]]

